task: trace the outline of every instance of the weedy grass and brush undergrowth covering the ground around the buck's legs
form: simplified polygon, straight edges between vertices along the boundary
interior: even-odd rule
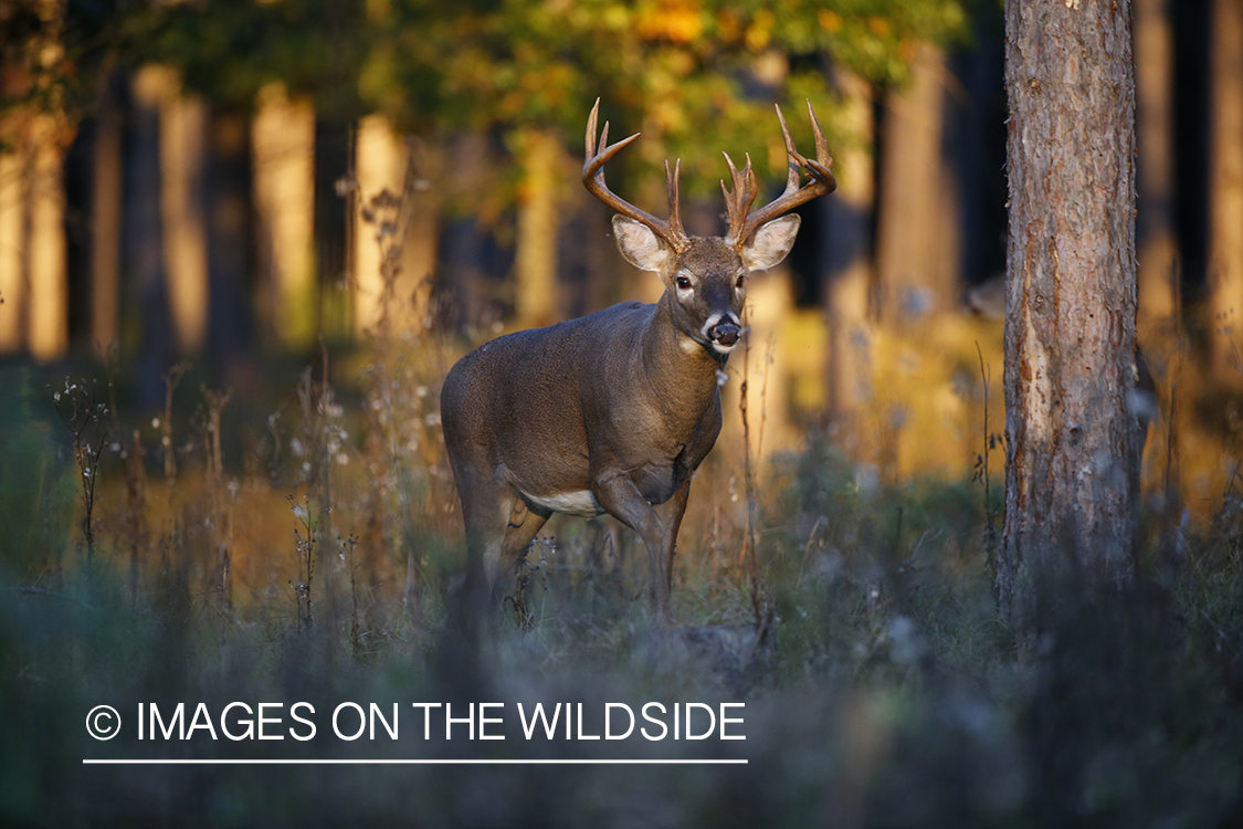
[[[445,621],[462,563],[436,404],[451,358],[382,344],[365,360],[272,367],[298,379],[262,404],[179,367],[142,415],[118,413],[121,380],[5,369],[0,822],[1243,825],[1237,476],[1211,508],[1147,511],[1135,589],[1054,585],[1024,644],[993,595],[999,451],[991,476],[981,457],[975,480],[878,481],[812,429],[756,483],[718,446],[680,536],[677,628],[653,625],[633,533],[554,520],[467,654]],[[168,725],[178,702],[189,723],[237,701],[282,703],[285,738],[137,737],[139,703]],[[314,740],[290,730],[298,701]],[[599,735],[607,703],[649,701],[742,702],[746,740],[531,740],[513,713],[582,703]],[[334,737],[343,702],[398,703],[400,737]],[[425,740],[414,702],[502,702],[506,740]],[[121,712],[118,740],[85,732],[96,705]]]

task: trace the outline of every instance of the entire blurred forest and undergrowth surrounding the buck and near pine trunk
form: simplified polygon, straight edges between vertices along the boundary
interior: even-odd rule
[[[1001,0],[0,0],[0,823],[1243,825],[1243,0],[1130,10],[1140,587],[1023,655]],[[781,191],[773,104],[839,188],[750,281],[679,633],[633,533],[554,518],[465,670],[445,373],[660,292],[579,181],[597,98],[610,188],[663,216],[681,158],[692,232],[722,150]],[[747,700],[751,764],[81,764],[272,756],[82,733],[195,698]]]

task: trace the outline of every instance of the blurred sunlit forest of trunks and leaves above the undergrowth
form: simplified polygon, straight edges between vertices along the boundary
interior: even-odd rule
[[[1157,384],[1178,362],[1213,400],[1180,430],[1192,456],[1236,439],[1218,396],[1243,387],[1238,5],[1134,4],[1141,341]],[[721,150],[778,189],[772,104],[809,148],[805,98],[842,185],[753,283],[768,449],[815,426],[892,479],[975,460],[965,388],[1001,387],[1001,2],[5,0],[0,25],[11,359],[112,354],[154,410],[179,360],[254,396],[273,359],[365,347],[382,316],[476,344],[650,301],[578,183],[593,101],[643,133],[614,188],[660,214],[681,158],[715,234]]]

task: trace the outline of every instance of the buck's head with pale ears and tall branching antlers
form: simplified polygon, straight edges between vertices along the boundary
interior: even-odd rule
[[[786,259],[794,245],[799,218],[783,214],[837,188],[830,172],[833,159],[812,104],[808,103],[807,111],[815,134],[814,160],[803,158],[794,149],[781,107],[777,108],[789,172],[786,191],[767,206],[751,210],[757,194],[751,157],[747,155],[747,163],[738,170],[728,154],[725,155],[732,180],[732,188],[721,183],[728,219],[725,236],[691,236],[682,227],[677,193],[680,163],[672,169],[665,163],[667,220],[639,210],[608,189],[604,184],[604,164],[639,135],[636,133],[609,145],[609,126],[605,123],[597,144],[599,106],[600,102],[597,101],[587,122],[583,184],[595,198],[620,214],[613,216],[613,234],[622,255],[635,267],[660,275],[666,295],[671,298],[674,323],[679,329],[715,354],[728,354],[742,334],[741,314],[747,275],[773,267]],[[804,169],[810,180],[800,186]]]

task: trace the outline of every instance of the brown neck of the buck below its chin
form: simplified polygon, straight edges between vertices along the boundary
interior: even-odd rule
[[[672,298],[666,291],[648,319],[640,370],[666,410],[696,416],[715,399],[717,369],[725,367],[707,348],[687,337],[674,322]]]

